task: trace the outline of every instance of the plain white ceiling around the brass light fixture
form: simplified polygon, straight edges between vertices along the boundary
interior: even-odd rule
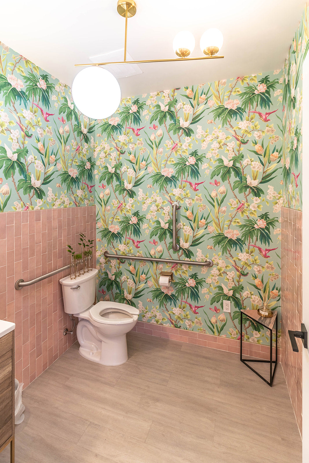
[[[125,21],[117,0],[1,2],[0,41],[71,85],[89,56],[123,47]],[[224,36],[220,60],[140,64],[143,74],[120,79],[123,96],[279,69],[305,6],[304,0],[136,0],[128,20],[133,59],[174,58],[172,42],[192,31],[195,50],[209,27]],[[6,18],[7,21],[3,19]]]

